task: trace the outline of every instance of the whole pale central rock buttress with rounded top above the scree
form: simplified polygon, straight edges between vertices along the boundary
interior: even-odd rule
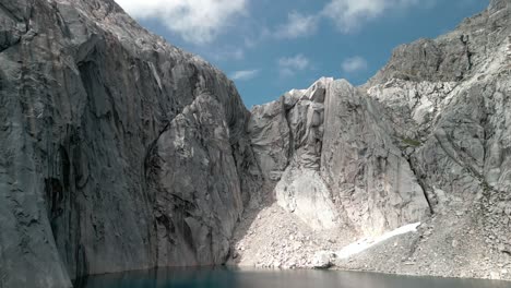
[[[278,204],[316,229],[363,236],[425,218],[425,193],[382,115],[365,93],[333,79],[254,107],[250,135],[262,170],[281,176],[265,175]],[[261,135],[278,142],[259,145]]]

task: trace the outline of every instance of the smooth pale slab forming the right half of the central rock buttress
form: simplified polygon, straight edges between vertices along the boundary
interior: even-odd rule
[[[376,236],[423,220],[427,200],[380,107],[346,81],[330,85],[325,107],[321,171],[348,224]]]

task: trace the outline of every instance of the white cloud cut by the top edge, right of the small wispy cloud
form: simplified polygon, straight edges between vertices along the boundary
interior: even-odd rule
[[[322,15],[335,22],[344,33],[359,29],[368,21],[382,16],[385,12],[428,3],[432,0],[331,0]]]

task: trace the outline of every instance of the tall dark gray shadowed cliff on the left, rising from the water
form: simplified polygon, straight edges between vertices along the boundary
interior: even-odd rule
[[[222,72],[110,0],[0,1],[0,287],[225,262],[260,176]]]

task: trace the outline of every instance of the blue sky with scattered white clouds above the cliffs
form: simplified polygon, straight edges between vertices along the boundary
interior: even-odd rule
[[[488,0],[116,0],[233,79],[248,108],[321,76],[365,83],[393,48],[453,29]]]

